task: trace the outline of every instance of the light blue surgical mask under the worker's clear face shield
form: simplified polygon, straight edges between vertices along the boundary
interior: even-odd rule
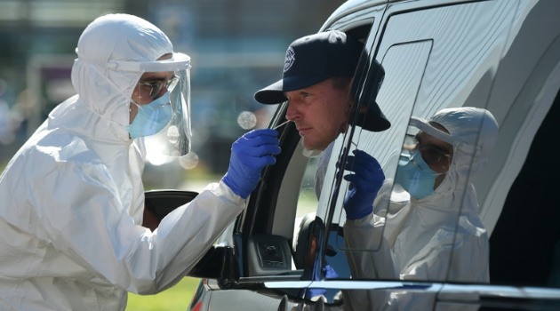
[[[138,107],[138,114],[132,120],[132,124],[126,126],[132,139],[154,135],[171,121],[172,108],[169,92],[165,92],[164,95],[147,105],[139,105],[134,101],[132,103]]]

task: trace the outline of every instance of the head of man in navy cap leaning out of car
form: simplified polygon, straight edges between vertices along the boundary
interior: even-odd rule
[[[282,79],[255,93],[262,104],[289,100],[286,118],[292,121],[308,151],[323,151],[346,132],[354,94],[353,76],[364,44],[338,30],[295,40],[288,48]],[[383,79],[379,63],[376,84]],[[377,103],[367,105],[364,129],[380,132],[390,126]]]

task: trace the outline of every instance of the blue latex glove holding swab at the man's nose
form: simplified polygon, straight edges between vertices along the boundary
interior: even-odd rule
[[[257,187],[260,171],[276,163],[272,155],[280,153],[277,136],[276,130],[255,130],[233,143],[228,172],[222,180],[236,195],[246,199]]]

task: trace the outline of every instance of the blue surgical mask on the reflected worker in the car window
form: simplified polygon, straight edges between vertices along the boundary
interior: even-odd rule
[[[398,161],[395,182],[401,185],[412,197],[421,199],[436,192],[434,184],[439,175],[424,162],[420,151],[404,151]]]

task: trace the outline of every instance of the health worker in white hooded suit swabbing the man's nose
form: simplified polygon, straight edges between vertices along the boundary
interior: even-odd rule
[[[0,309],[124,310],[127,291],[180,281],[244,209],[277,132],[246,133],[226,176],[141,227],[144,137],[188,152],[189,58],[126,14],[102,16],[77,44],[77,95],[54,108],[0,176]]]

